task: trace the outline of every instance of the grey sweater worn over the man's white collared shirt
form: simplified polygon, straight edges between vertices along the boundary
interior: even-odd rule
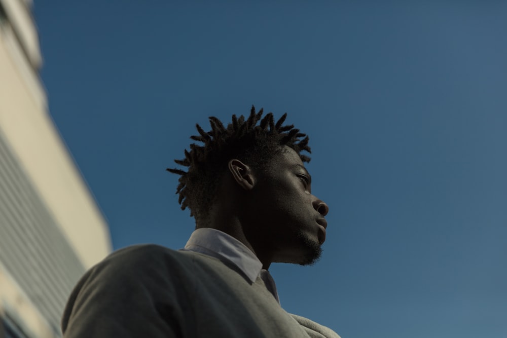
[[[69,297],[65,338],[328,337],[331,329],[285,312],[261,278],[191,251],[137,245],[88,271]]]

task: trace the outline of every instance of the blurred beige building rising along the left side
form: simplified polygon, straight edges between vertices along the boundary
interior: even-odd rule
[[[0,337],[49,338],[111,242],[49,115],[31,6],[0,0]]]

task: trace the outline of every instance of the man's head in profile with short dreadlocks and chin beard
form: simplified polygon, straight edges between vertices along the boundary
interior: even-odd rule
[[[262,112],[252,106],[248,119],[233,116],[227,128],[210,117],[209,132],[196,125],[200,135],[191,138],[204,145],[191,144],[185,159],[175,160],[188,171],[167,170],[181,175],[179,203],[198,227],[209,223],[216,205],[227,205],[220,212],[237,217],[258,256],[311,264],[320,255],[328,206],[311,194],[303,165],[310,159],[301,154],[310,152],[308,136],[282,126],[286,114],[275,123],[272,113],[260,120]]]

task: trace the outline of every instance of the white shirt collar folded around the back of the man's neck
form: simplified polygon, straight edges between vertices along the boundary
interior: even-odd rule
[[[243,243],[216,229],[200,228],[190,236],[185,250],[195,251],[219,259],[227,259],[253,283],[262,270],[262,262]]]

